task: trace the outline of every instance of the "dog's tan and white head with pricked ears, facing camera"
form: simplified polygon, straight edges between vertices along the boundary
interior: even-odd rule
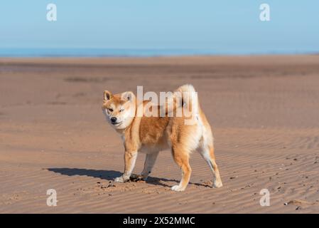
[[[136,99],[132,92],[124,92],[113,95],[104,91],[102,111],[115,129],[125,129],[134,119],[136,110]]]

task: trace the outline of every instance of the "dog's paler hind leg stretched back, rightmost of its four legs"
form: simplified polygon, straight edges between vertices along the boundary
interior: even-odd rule
[[[198,148],[200,155],[210,166],[213,175],[213,187],[222,187],[222,179],[220,178],[220,170],[216,164],[213,145],[205,145],[205,142]]]

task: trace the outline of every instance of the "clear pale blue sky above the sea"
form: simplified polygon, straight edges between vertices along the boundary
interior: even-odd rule
[[[46,20],[46,6],[58,21]],[[259,20],[269,4],[271,21]],[[319,51],[319,1],[10,0],[0,48],[200,48],[218,53]]]

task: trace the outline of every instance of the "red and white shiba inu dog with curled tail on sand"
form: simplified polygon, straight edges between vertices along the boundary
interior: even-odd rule
[[[186,115],[184,108],[191,110],[193,115]],[[159,114],[163,110],[165,115],[149,115],[149,111]],[[171,149],[173,159],[182,170],[179,185],[171,189],[183,191],[190,180],[190,153],[197,150],[212,170],[215,177],[213,187],[222,187],[215,161],[212,130],[200,108],[193,86],[180,86],[171,95],[171,99],[166,99],[164,105],[153,104],[153,100],[139,100],[130,91],[113,95],[105,90],[102,111],[107,122],[121,135],[124,143],[124,173],[117,177],[115,182],[129,180],[138,152],[146,153],[144,169],[140,176],[146,180],[158,152]],[[174,112],[180,115],[170,115]],[[186,120],[193,122],[185,124]]]

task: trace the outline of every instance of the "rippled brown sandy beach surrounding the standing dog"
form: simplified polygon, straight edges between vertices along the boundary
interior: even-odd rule
[[[180,170],[158,157],[147,182],[121,175],[124,149],[102,91],[193,83],[213,127],[224,187],[194,153]],[[319,56],[0,58],[0,212],[318,213]],[[140,154],[134,173],[144,163]],[[58,206],[46,205],[55,189]],[[270,206],[261,207],[261,189]],[[286,204],[286,205],[285,205]]]

